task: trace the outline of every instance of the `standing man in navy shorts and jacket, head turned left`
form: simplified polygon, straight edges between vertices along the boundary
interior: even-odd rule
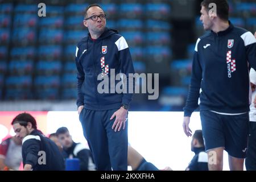
[[[184,107],[183,129],[191,136],[189,121],[200,106],[201,125],[209,170],[222,170],[223,151],[230,170],[243,170],[249,135],[249,68],[256,69],[256,40],[229,21],[226,0],[204,0],[201,22],[207,34],[195,47],[192,76]]]

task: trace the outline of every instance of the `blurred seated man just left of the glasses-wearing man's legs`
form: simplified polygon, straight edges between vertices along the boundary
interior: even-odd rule
[[[95,164],[93,162],[92,152],[88,147],[81,143],[75,143],[67,127],[60,127],[56,131],[57,138],[63,147],[63,156],[67,158],[78,158],[80,160],[81,171],[94,171]]]

